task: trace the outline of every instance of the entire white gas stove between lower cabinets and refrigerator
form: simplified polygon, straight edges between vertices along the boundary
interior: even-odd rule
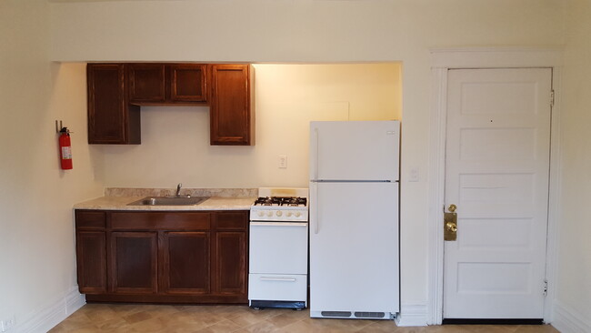
[[[307,307],[307,188],[259,188],[250,207],[248,301],[252,308]]]

